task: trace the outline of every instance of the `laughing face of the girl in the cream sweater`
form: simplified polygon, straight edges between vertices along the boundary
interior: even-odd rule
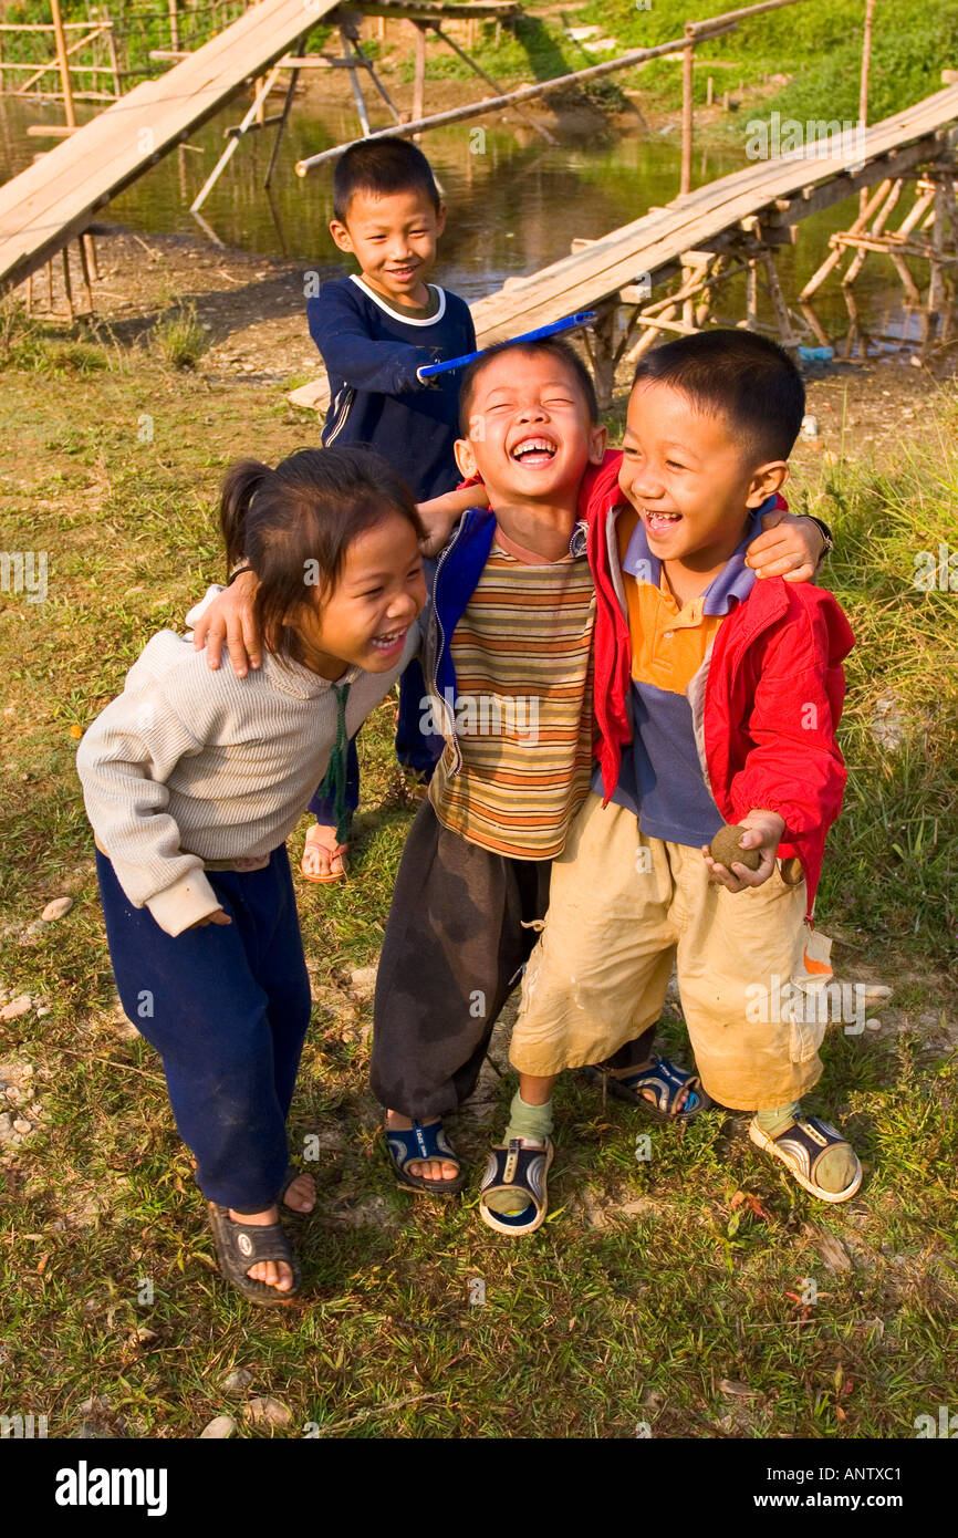
[[[337,586],[314,588],[314,600],[291,615],[308,667],[331,680],[348,666],[395,667],[426,603],[423,557],[407,518],[394,514],[358,534]]]

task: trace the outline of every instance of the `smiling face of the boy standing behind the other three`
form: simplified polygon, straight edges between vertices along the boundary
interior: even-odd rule
[[[446,226],[438,209],[418,188],[374,197],[354,192],[346,221],[329,226],[340,251],[351,251],[363,277],[392,305],[421,306],[429,300],[426,278],[435,266],[437,241]]]

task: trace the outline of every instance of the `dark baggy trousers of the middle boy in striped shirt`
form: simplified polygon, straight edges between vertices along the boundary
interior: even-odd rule
[[[551,860],[512,860],[443,827],[409,831],[375,986],[371,1086],[418,1121],[475,1089],[498,1014],[537,940]]]

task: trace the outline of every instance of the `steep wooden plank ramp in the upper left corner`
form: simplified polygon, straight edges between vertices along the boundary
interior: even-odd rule
[[[338,0],[260,0],[158,80],[0,186],[0,292],[22,283],[97,209],[304,37]]]

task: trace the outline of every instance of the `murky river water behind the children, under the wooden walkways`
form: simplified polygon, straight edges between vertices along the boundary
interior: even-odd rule
[[[269,111],[278,98],[272,98]],[[98,218],[123,223],[143,234],[180,234],[208,238],[189,205],[225,145],[225,128],[237,123],[244,102],[234,102],[197,131],[189,146],[166,155],[132,183]],[[86,108],[89,112],[89,108]],[[81,115],[83,108],[78,108]],[[17,102],[0,95],[0,180],[31,163],[49,140],[28,138],[29,123],[62,122],[57,105]],[[311,94],[294,105],[280,154],[272,194],[263,177],[272,149],[272,129],[243,140],[203,208],[209,229],[226,246],[258,255],[288,257],[317,265],[346,258],[329,237],[332,169],[324,165],[300,178],[294,163],[348,140],[357,131],[351,108],[323,106]],[[498,288],[504,278],[535,272],[569,254],[574,237],[597,238],[667,203],[678,191],[678,131],[646,134],[557,131],[547,145],[512,117],[466,122],[434,129],[421,140],[449,205],[437,277],[467,300]],[[729,145],[698,149],[694,183],[698,186],[746,165],[746,123],[729,132]],[[829,234],[846,229],[858,212],[858,198],[807,218],[798,243],[777,252],[777,266],[789,303],[827,255]],[[926,272],[915,272],[923,286]],[[744,315],[743,280],[733,278],[717,301],[726,321]],[[918,317],[901,305],[901,289],[887,260],[869,257],[855,283],[855,301],[864,329],[875,337],[916,338]],[[815,311],[830,340],[849,328],[840,281],[830,277],[815,297]],[[769,318],[767,300],[760,317]],[[807,338],[813,341],[812,337]],[[878,346],[878,345],[877,345]],[[883,348],[884,351],[884,348]]]

